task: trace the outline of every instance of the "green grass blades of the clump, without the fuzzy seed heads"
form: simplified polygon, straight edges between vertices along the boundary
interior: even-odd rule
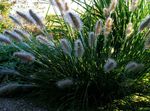
[[[9,81],[37,85],[39,90],[36,94],[48,96],[51,102],[60,105],[60,109],[67,109],[70,105],[72,108],[77,107],[77,110],[87,110],[89,106],[109,105],[114,100],[138,92],[139,90],[135,90],[135,87],[150,72],[150,51],[144,49],[149,29],[143,32],[138,30],[141,21],[149,14],[149,4],[141,0],[138,8],[130,12],[125,2],[119,0],[116,10],[111,14],[114,21],[112,31],[107,37],[108,40],[105,43],[105,36],[101,34],[97,37],[94,48],[91,48],[88,45],[88,33],[95,31],[94,26],[98,19],[102,19],[105,24],[106,17],[103,14],[103,8],[110,4],[105,0],[93,0],[92,2],[94,6],[78,2],[85,6],[86,10],[82,14],[84,26],[81,32],[73,30],[60,18],[54,20],[59,25],[47,29],[48,32],[56,35],[56,38],[54,36],[54,40],[51,40],[55,43],[54,47],[41,44],[34,37],[31,41],[26,41],[30,48],[21,46],[22,43],[15,43],[22,50],[36,57],[33,63],[24,63],[11,56],[19,49],[3,46],[2,60],[6,60],[7,64],[12,63],[13,65],[8,64],[8,66],[10,65],[22,74],[22,77],[9,78]],[[134,32],[127,38],[126,29],[129,22],[133,23]],[[44,34],[47,36],[45,30]],[[85,40],[85,52],[83,57],[78,58],[74,54],[74,41],[80,37]],[[64,54],[60,38],[70,40],[73,49],[71,56]],[[111,52],[112,49],[114,52]],[[6,54],[9,55],[6,56]],[[104,71],[108,58],[113,58],[117,62],[117,67],[110,72]],[[130,61],[144,64],[144,67],[128,72],[125,67]],[[2,65],[5,66],[5,63]],[[57,86],[57,82],[63,79],[72,79],[74,84],[69,88],[61,89]]]

